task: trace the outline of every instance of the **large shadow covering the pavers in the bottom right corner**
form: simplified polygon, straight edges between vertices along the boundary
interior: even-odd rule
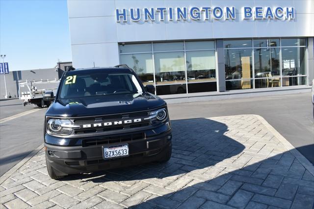
[[[301,148],[314,151],[313,144]],[[229,172],[221,172],[206,181],[196,178],[177,191],[152,195],[129,208],[250,209],[269,206],[278,209],[312,209],[314,175],[292,155],[294,151],[296,149],[248,163],[241,168],[226,168]],[[313,171],[310,163],[308,166]],[[204,174],[202,176],[207,178]],[[126,201],[122,203],[128,204]]]

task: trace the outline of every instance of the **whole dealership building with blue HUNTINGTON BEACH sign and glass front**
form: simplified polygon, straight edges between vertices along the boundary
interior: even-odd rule
[[[309,91],[313,0],[68,1],[75,68],[127,64],[166,99]]]

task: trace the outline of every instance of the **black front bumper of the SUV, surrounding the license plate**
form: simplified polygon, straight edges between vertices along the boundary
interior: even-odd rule
[[[46,134],[48,135],[48,134]],[[56,175],[90,173],[99,170],[157,161],[171,149],[171,129],[144,139],[113,143],[129,145],[129,156],[112,159],[103,158],[103,145],[96,146],[56,146],[48,144],[45,137],[47,160]],[[51,138],[50,138],[51,139]],[[52,154],[53,152],[53,154]]]

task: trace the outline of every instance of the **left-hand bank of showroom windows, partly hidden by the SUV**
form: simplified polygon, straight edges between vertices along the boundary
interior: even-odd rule
[[[119,47],[121,63],[130,66],[144,85],[155,83],[157,95],[217,91],[214,41],[126,44]]]

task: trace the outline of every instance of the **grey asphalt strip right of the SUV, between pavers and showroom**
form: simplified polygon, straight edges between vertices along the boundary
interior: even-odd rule
[[[314,118],[311,93],[168,104],[171,120],[261,115],[314,164]]]

